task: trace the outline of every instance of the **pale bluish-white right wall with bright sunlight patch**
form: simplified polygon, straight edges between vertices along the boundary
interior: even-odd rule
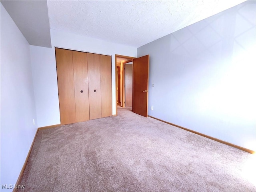
[[[244,2],[138,48],[150,55],[150,116],[256,150],[255,7]]]

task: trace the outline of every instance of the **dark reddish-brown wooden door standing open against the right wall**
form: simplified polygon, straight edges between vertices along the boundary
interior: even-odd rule
[[[148,69],[149,55],[133,60],[132,111],[148,116]]]

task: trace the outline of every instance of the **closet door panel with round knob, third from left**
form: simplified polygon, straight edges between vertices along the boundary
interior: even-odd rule
[[[100,55],[87,53],[90,120],[101,118]]]

